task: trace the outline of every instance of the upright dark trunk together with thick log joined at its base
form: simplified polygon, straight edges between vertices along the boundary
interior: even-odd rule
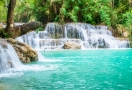
[[[40,22],[31,22],[28,24],[23,24],[19,26],[15,26],[14,24],[14,9],[16,5],[16,0],[10,0],[8,13],[7,13],[7,26],[6,33],[11,38],[16,38],[20,35],[26,34],[29,31],[36,30],[39,27],[42,27]]]

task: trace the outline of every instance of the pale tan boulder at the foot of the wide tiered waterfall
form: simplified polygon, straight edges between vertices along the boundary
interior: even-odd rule
[[[63,46],[64,49],[81,49],[81,45],[75,42],[66,42]]]

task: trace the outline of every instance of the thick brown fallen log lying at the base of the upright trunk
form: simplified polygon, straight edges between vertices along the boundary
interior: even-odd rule
[[[34,31],[37,28],[42,27],[43,25],[41,22],[30,22],[13,27],[11,33],[8,33],[5,28],[0,28],[0,38],[16,38],[28,33],[29,31]]]

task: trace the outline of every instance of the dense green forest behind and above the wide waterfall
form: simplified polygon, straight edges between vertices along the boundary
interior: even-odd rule
[[[6,23],[9,0],[0,0],[0,22]],[[132,31],[132,0],[17,0],[15,22],[85,22],[118,25]]]

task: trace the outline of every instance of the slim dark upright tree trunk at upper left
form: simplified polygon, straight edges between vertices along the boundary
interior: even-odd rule
[[[16,0],[10,0],[9,7],[8,7],[8,13],[7,13],[7,27],[6,32],[8,35],[13,36],[13,30],[14,30],[14,9],[16,5]]]

